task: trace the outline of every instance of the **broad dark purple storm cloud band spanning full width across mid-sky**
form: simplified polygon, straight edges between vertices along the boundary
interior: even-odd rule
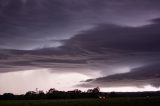
[[[72,72],[90,69],[108,75],[157,63],[160,59],[159,26],[158,19],[153,20],[153,24],[142,27],[103,24],[75,35],[58,48],[2,49],[1,72],[6,71],[7,67],[9,71],[11,68],[27,70],[34,67],[68,69]]]

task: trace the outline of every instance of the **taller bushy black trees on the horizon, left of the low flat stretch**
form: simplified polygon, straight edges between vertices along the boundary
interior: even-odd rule
[[[72,91],[59,91],[55,88],[49,89],[46,93],[41,90],[28,91],[22,95],[14,95],[13,93],[4,93],[0,95],[0,100],[37,100],[37,99],[78,99],[78,98],[98,98],[100,95],[99,87],[88,89],[82,92],[79,89]]]

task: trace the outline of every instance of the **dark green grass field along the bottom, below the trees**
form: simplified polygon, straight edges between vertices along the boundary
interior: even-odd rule
[[[160,97],[69,99],[69,100],[9,100],[0,106],[160,106]]]

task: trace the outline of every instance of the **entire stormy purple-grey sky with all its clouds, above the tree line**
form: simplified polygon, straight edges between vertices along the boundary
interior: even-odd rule
[[[159,5],[0,0],[0,93],[160,90]]]

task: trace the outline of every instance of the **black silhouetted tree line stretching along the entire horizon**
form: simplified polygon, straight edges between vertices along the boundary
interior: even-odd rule
[[[72,91],[58,91],[55,88],[49,89],[46,93],[42,90],[28,91],[23,95],[14,95],[12,93],[4,93],[0,95],[0,100],[37,100],[37,99],[78,99],[78,98],[98,98],[98,97],[149,97],[160,96],[160,92],[100,92],[100,88],[96,87],[82,92],[79,89]]]

